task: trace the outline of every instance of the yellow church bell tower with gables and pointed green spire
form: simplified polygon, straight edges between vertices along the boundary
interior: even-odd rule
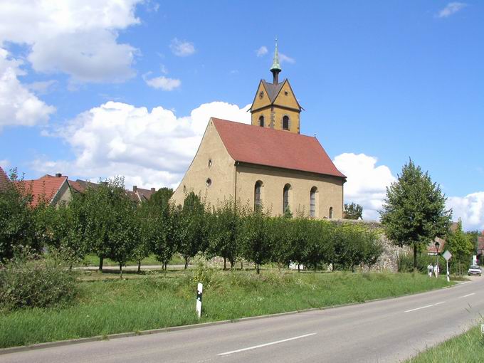
[[[275,40],[273,65],[270,72],[273,82],[261,80],[257,88],[256,97],[252,102],[252,125],[270,127],[275,130],[300,133],[300,112],[302,107],[296,99],[289,80],[279,82],[278,40]]]

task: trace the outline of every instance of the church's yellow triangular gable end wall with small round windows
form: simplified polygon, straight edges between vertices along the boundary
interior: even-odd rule
[[[211,167],[209,167],[211,160]],[[200,147],[196,152],[185,176],[174,191],[172,201],[183,205],[186,194],[194,191],[212,206],[223,199],[229,199],[235,194],[235,161],[228,154],[223,142],[216,132],[214,122],[209,121]],[[206,186],[206,179],[211,179],[211,185]]]

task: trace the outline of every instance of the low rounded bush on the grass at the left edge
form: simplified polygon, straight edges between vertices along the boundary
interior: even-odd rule
[[[0,268],[0,310],[61,306],[77,293],[75,275],[53,259],[13,258]]]

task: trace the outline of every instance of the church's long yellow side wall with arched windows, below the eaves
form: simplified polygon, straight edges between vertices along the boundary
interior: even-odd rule
[[[237,199],[253,208],[254,186],[262,181],[261,199],[264,210],[278,216],[283,214],[283,189],[290,184],[289,205],[294,215],[309,216],[310,190],[316,186],[316,218],[343,217],[343,181],[341,178],[297,172],[271,167],[239,164],[237,166]]]

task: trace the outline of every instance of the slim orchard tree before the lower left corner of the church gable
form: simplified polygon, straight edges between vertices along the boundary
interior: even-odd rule
[[[177,225],[178,252],[183,256],[187,268],[190,258],[206,250],[208,239],[205,206],[193,191],[184,200]]]

